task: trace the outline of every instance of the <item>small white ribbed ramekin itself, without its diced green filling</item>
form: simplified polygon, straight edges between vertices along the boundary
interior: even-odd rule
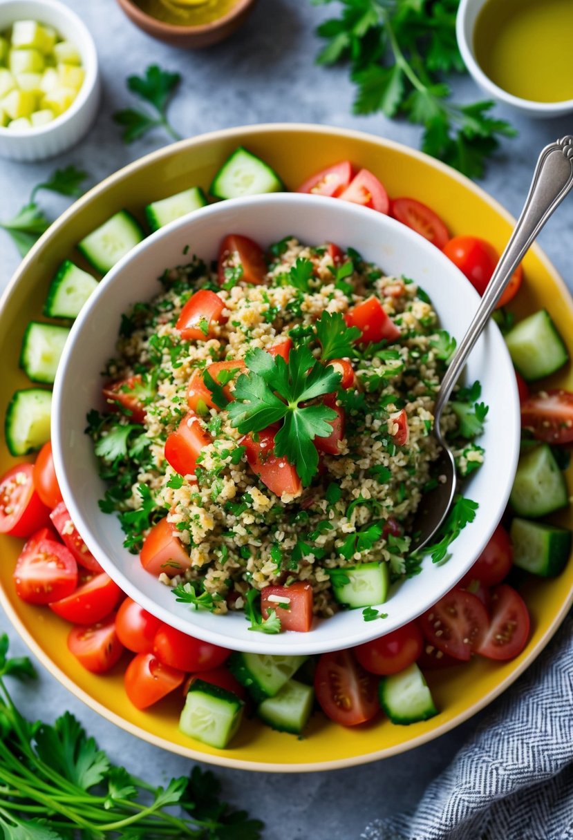
[[[53,26],[58,34],[76,45],[86,71],[76,99],[53,122],[35,129],[0,127],[1,157],[43,160],[60,155],[76,144],[96,117],[100,97],[96,45],[81,18],[57,0],[3,0],[0,3],[0,32],[15,20],[37,20],[40,24]]]

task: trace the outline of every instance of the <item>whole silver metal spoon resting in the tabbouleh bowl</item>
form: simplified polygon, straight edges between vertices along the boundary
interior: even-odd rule
[[[457,480],[454,455],[444,440],[439,426],[444,406],[460,377],[471,349],[486,327],[513,272],[549,216],[570,191],[571,186],[573,186],[573,135],[567,134],[555,143],[545,146],[539,155],[534,178],[518,223],[497,263],[492,279],[487,284],[476,315],[450,360],[448,370],[442,380],[434,406],[434,435],[442,447],[442,453],[434,467],[440,480],[438,486],[426,493],[420,501],[412,527],[414,534],[412,550],[423,548],[438,531],[455,495]]]

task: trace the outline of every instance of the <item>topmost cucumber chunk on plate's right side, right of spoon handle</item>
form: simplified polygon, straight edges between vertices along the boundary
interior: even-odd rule
[[[505,336],[513,364],[528,382],[565,365],[569,353],[546,309],[524,318]]]

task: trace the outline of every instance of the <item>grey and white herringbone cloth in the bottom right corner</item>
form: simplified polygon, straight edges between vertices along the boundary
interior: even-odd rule
[[[573,840],[573,617],[418,808],[362,840]]]

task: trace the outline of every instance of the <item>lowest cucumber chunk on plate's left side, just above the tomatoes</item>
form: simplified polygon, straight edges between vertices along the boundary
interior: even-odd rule
[[[27,455],[50,440],[51,391],[16,391],[6,411],[4,431],[12,455]]]

